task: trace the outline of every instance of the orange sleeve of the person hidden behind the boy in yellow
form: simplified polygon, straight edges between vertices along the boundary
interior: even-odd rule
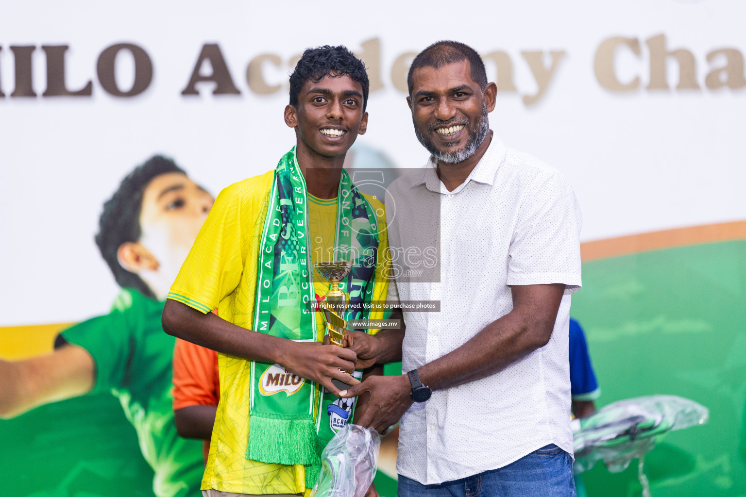
[[[190,405],[218,405],[218,352],[176,339],[174,411]]]

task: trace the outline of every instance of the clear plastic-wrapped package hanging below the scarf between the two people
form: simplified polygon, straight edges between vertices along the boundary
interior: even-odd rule
[[[322,469],[310,497],[363,497],[375,478],[380,439],[373,428],[348,422],[322,452]]]

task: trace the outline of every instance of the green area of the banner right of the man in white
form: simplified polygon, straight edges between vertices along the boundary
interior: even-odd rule
[[[645,458],[653,496],[746,491],[746,241],[583,265],[572,314],[585,327],[599,405],[666,393],[709,408],[709,424],[674,431]],[[583,475],[589,496],[640,495],[636,461]]]

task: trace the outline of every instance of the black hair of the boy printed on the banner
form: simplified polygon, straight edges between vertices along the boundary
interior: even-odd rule
[[[155,299],[155,296],[150,287],[145,285],[140,276],[122,268],[116,253],[123,243],[140,240],[142,194],[154,177],[166,173],[186,174],[172,159],[160,155],[152,156],[138,165],[122,183],[119,183],[119,189],[104,203],[104,212],[101,212],[101,218],[98,220],[98,234],[95,235],[95,244],[98,245],[101,256],[109,265],[119,286],[134,288],[151,299]]]

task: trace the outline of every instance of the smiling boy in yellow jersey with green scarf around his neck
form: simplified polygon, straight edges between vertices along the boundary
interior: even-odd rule
[[[295,147],[219,194],[169,293],[163,329],[220,352],[205,496],[307,493],[321,449],[349,419],[349,399],[330,394],[332,379],[357,384],[340,371],[357,356],[322,341],[313,303],[328,283],[313,263],[352,261],[345,318],[383,317],[366,306],[386,298],[383,206],[342,168],[366,132],[368,87],[347,48],[304,52],[284,113]]]

